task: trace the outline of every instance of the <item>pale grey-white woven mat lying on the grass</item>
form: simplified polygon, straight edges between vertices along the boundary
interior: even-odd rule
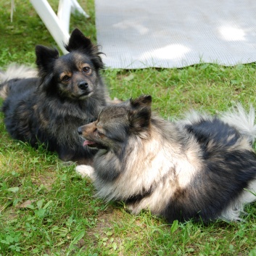
[[[256,62],[255,0],[95,0],[107,67]]]

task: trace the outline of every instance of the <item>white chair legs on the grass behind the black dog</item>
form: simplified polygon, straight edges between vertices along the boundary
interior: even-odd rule
[[[56,41],[59,49],[64,54],[67,53],[64,44],[67,44],[70,38],[70,14],[77,10],[85,17],[89,16],[76,0],[59,0],[57,15],[46,0],[30,0],[30,2]]]

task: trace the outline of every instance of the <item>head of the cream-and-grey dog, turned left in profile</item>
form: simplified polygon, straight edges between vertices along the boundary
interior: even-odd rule
[[[80,126],[78,133],[84,145],[98,149],[118,149],[130,136],[146,139],[151,122],[152,97],[149,95],[128,102],[104,107],[98,119]]]

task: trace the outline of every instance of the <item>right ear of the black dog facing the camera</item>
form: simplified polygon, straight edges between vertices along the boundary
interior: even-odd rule
[[[99,52],[98,46],[94,45],[89,38],[83,36],[83,33],[78,28],[75,28],[71,33],[70,40],[65,45],[65,49],[69,52],[82,51],[83,54],[90,55],[95,67],[104,68],[102,58],[99,57],[99,54],[102,54],[102,52]]]

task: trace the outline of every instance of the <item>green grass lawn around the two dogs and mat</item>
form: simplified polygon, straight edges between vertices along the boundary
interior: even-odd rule
[[[57,1],[49,1],[57,10]],[[93,0],[80,0],[91,16],[71,19],[96,42]],[[36,44],[55,46],[29,1],[0,0],[0,67],[11,62],[34,65]],[[104,51],[104,45],[103,45]],[[194,107],[212,114],[236,102],[256,107],[255,64],[182,69],[104,70],[112,98],[153,96],[153,108],[177,118]],[[0,102],[1,104],[1,102]],[[256,255],[256,205],[246,207],[244,222],[173,223],[105,204],[87,179],[76,176],[56,154],[10,139],[0,114],[0,255]]]

